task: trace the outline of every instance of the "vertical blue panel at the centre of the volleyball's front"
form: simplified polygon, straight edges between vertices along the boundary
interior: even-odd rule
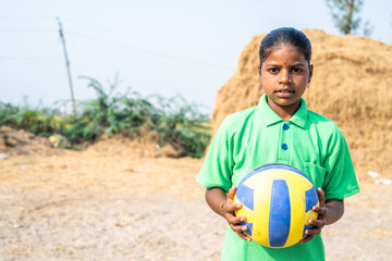
[[[291,203],[289,187],[285,181],[272,183],[271,207],[269,214],[269,245],[283,247],[287,240],[291,223]]]

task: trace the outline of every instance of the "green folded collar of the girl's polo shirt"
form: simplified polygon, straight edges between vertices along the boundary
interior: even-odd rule
[[[267,103],[267,95],[262,95],[259,103],[259,111],[261,111],[261,121],[267,125],[273,125],[278,122],[283,122],[281,119]],[[301,107],[298,111],[289,120],[289,122],[297,125],[301,128],[305,128],[307,119],[307,108],[306,102],[301,98]]]

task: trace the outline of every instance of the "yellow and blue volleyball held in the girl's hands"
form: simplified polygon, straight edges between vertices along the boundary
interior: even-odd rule
[[[234,203],[243,207],[235,215],[244,215],[252,240],[270,248],[286,248],[305,237],[311,228],[309,219],[318,206],[311,181],[299,170],[280,163],[266,164],[249,172],[238,184]]]

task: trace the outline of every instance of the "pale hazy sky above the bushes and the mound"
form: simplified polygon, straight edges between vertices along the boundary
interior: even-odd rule
[[[107,90],[180,95],[211,111],[252,37],[277,27],[339,35],[323,0],[0,0],[0,101],[54,107],[71,99],[60,18],[77,101]],[[365,0],[371,38],[392,44],[392,1]],[[359,29],[359,33],[362,30]]]

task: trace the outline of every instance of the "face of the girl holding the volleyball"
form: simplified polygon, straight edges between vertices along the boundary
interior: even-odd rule
[[[272,110],[296,111],[311,75],[313,65],[309,66],[304,53],[286,45],[273,50],[259,67],[260,82]]]

